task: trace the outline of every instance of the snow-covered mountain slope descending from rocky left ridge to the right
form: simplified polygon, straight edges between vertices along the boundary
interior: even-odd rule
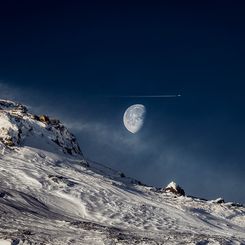
[[[0,245],[245,244],[243,206],[167,193],[87,161],[57,120],[0,101],[0,141]]]

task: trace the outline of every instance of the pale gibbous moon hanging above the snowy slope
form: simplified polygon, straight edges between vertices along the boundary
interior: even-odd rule
[[[123,115],[123,122],[126,129],[135,134],[144,124],[146,109],[144,105],[135,104],[131,105]]]

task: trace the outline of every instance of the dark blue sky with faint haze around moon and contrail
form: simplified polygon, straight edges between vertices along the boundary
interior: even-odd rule
[[[59,117],[88,158],[146,184],[245,203],[244,1],[82,2],[0,3],[1,97]],[[134,103],[147,109],[135,135]]]

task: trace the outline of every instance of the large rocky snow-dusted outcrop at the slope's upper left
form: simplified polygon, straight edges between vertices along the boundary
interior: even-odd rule
[[[70,155],[82,154],[75,136],[57,119],[37,116],[19,103],[0,100],[2,147],[30,146]]]

